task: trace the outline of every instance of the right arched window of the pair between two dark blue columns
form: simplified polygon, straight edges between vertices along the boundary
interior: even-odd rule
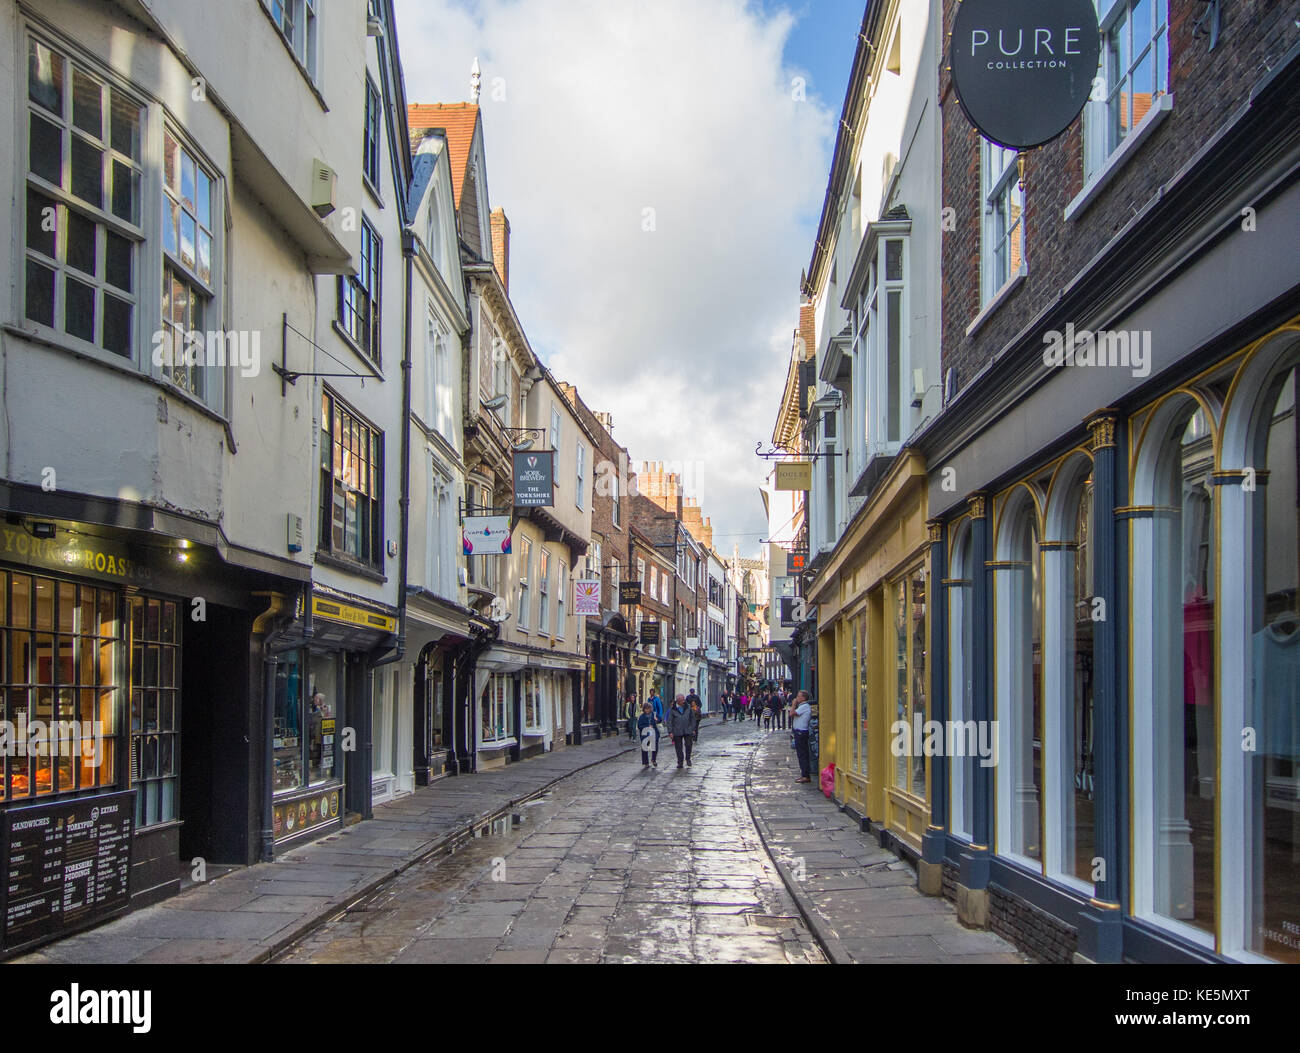
[[[1057,472],[1043,545],[1044,807],[1046,872],[1091,890],[1096,857],[1093,757],[1092,462],[1084,454]],[[1105,597],[1102,597],[1105,599]]]

